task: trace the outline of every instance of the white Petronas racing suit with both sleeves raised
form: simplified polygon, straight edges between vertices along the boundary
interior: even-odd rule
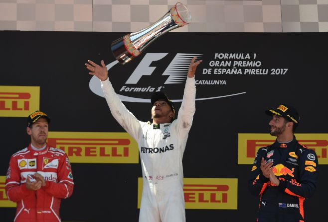
[[[143,171],[140,222],[184,222],[182,155],[195,112],[194,77],[187,77],[178,118],[153,125],[138,121],[102,81],[108,106],[119,124],[138,142]]]

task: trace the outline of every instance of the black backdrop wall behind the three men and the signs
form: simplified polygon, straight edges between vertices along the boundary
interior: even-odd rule
[[[126,33],[97,32],[0,32],[0,85],[40,86],[40,110],[52,119],[55,132],[124,132],[109,113],[105,99],[89,88],[91,76],[87,60],[106,64],[114,61],[110,51],[113,40]],[[193,126],[183,156],[184,177],[238,178],[237,210],[186,209],[191,221],[256,220],[258,198],[247,190],[250,164],[238,164],[238,133],[268,133],[267,108],[289,103],[298,108],[301,124],[297,133],[328,133],[327,71],[328,33],[167,33],[152,43],[134,61],[110,69],[114,88],[119,91],[147,53],[168,53],[155,61],[154,74],[143,76],[134,86],[165,86],[172,99],[182,98],[183,84],[164,85],[162,75],[177,53],[202,54],[196,79],[225,80],[225,84],[197,85],[197,98],[245,92],[236,96],[196,101]],[[249,53],[250,59],[222,61],[260,61],[267,75],[202,74],[210,67],[215,53]],[[256,53],[256,59],[253,54]],[[271,75],[271,69],[288,69],[286,74]],[[213,71],[212,71],[213,72]],[[223,81],[222,81],[223,82]],[[114,84],[115,83],[115,84]],[[149,98],[151,92],[122,92],[129,97]],[[149,103],[124,102],[135,116],[150,120]],[[176,102],[177,107],[180,106]],[[31,110],[33,112],[34,110]],[[10,155],[26,147],[26,119],[0,117],[0,175],[5,175]],[[328,213],[327,166],[321,164],[316,194],[305,202],[309,222],[325,221]],[[138,164],[72,163],[75,189],[62,201],[63,221],[138,221]],[[13,220],[14,208],[0,208],[0,220]]]

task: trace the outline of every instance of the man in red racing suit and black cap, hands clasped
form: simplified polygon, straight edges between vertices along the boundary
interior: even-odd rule
[[[31,143],[9,162],[5,191],[17,203],[14,222],[60,222],[60,201],[73,192],[73,176],[66,153],[47,144],[50,118],[41,111],[27,117]]]

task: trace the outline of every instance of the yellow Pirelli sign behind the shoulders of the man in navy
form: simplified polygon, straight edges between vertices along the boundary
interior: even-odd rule
[[[328,134],[295,134],[297,140],[316,151],[319,164],[328,164]],[[270,134],[238,134],[238,164],[253,164],[259,148],[273,144]]]

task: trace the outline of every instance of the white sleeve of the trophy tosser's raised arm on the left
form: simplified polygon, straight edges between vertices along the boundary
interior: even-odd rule
[[[101,81],[101,88],[103,89],[107,104],[113,117],[136,141],[138,141],[142,131],[141,124],[146,123],[140,122],[125,107],[121,99],[115,93],[114,88],[108,78],[105,81]]]

